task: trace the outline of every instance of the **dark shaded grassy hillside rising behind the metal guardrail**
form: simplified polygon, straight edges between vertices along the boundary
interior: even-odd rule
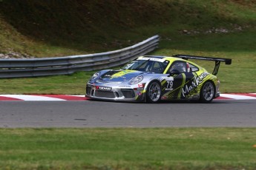
[[[151,35],[255,29],[253,0],[1,0],[0,58],[119,49]]]

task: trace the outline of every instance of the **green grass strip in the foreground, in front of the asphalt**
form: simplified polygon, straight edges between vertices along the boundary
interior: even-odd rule
[[[255,129],[0,129],[1,169],[256,169]]]

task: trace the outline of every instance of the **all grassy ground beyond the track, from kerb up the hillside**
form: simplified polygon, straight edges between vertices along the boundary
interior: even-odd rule
[[[255,7],[255,1],[239,0],[129,4],[1,0],[0,54],[53,57],[106,52],[158,34],[160,47],[151,54],[232,58],[231,66],[220,66],[220,91],[255,92]],[[196,62],[209,72],[214,66]],[[92,74],[0,79],[0,94],[82,95]]]

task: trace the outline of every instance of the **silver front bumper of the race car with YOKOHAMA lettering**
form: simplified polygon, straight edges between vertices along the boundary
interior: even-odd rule
[[[143,101],[143,88],[132,88],[132,86],[98,86],[87,84],[85,97],[103,101]]]

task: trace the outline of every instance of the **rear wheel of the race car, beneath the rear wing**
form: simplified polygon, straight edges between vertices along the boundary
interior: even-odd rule
[[[212,81],[206,81],[200,90],[200,102],[211,103],[215,95],[215,86]]]

